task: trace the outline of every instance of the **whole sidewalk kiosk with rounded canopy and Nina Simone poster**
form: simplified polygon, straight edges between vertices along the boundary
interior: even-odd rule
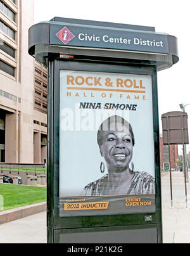
[[[48,243],[162,243],[154,27],[53,18],[29,30],[48,67]]]

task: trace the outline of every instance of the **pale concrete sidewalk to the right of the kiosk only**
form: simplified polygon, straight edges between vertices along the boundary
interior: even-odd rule
[[[162,177],[163,243],[190,243],[190,182],[187,183],[188,208],[186,208],[182,172],[172,172],[172,192],[173,208],[171,208],[170,176],[167,174]]]

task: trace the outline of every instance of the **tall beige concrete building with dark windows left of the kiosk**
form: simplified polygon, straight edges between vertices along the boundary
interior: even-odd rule
[[[47,71],[28,54],[33,24],[33,0],[0,0],[0,162],[46,160],[47,103],[41,98],[42,108],[35,106],[35,67],[46,86]]]

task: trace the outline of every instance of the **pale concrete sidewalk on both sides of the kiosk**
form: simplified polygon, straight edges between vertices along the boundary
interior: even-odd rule
[[[190,243],[190,182],[186,209],[184,177],[172,172],[174,208],[170,205],[170,177],[162,177],[163,243]],[[47,243],[46,212],[0,225],[0,243]]]

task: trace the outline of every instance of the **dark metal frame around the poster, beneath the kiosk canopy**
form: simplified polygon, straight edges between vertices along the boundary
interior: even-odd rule
[[[51,184],[48,189],[48,227],[53,229],[54,234],[60,233],[60,229],[63,229],[67,233],[68,229],[79,228],[81,231],[87,231],[87,227],[91,229],[95,227],[105,227],[114,226],[113,230],[120,229],[121,226],[130,227],[132,229],[144,229],[144,228],[156,228],[158,234],[158,241],[162,242],[162,207],[161,207],[161,191],[160,191],[160,154],[159,154],[159,123],[158,123],[158,104],[157,104],[157,83],[156,83],[156,67],[142,67],[138,70],[136,67],[130,65],[114,65],[105,64],[101,62],[99,65],[97,63],[89,61],[81,63],[80,61],[60,61],[55,60],[49,63],[49,77],[54,77],[54,80],[49,82],[49,126],[48,131],[48,141],[49,141],[49,158],[48,161],[51,165],[48,165],[48,184]],[[137,75],[151,75],[153,79],[153,112],[154,112],[154,133],[155,133],[155,170],[156,170],[156,213],[149,214],[132,214],[132,215],[107,215],[103,216],[91,216],[91,217],[64,217],[60,218],[59,205],[59,146],[60,146],[60,70],[79,70],[79,71],[96,71],[96,72],[113,72],[113,73],[127,73],[127,74],[137,74]],[[53,74],[51,74],[53,72]],[[51,129],[50,127],[53,127]],[[51,155],[53,154],[53,155]],[[52,161],[53,159],[53,161]],[[51,192],[53,189],[53,193]],[[53,205],[53,211],[51,207]],[[151,215],[152,221],[146,221],[146,216]],[[145,226],[144,226],[145,225]],[[118,227],[117,227],[118,226]],[[132,227],[133,226],[133,227]],[[81,229],[82,228],[82,229]],[[61,233],[64,233],[61,231]],[[73,230],[70,230],[73,232]],[[136,234],[135,234],[136,236]],[[152,234],[151,234],[152,236]],[[70,238],[69,238],[70,240]],[[136,238],[137,240],[137,238]],[[49,236],[49,241],[53,241],[53,236]],[[56,239],[55,242],[58,240]]]

